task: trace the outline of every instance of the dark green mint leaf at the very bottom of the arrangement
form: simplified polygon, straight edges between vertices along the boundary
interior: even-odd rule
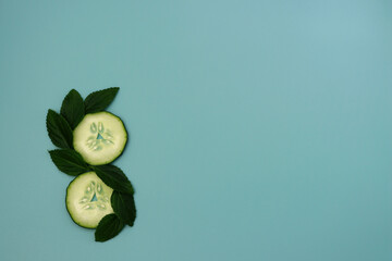
[[[108,214],[99,222],[95,238],[96,241],[107,241],[112,239],[124,228],[125,224],[117,214]]]

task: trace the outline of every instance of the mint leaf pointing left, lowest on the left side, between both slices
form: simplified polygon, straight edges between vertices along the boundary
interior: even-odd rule
[[[56,166],[65,174],[77,176],[89,171],[82,156],[74,150],[59,149],[51,150],[49,153]]]

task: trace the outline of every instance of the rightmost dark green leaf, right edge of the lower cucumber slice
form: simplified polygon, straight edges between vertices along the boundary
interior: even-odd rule
[[[124,223],[133,226],[136,219],[136,206],[133,195],[114,190],[110,200],[114,213],[117,213]]]

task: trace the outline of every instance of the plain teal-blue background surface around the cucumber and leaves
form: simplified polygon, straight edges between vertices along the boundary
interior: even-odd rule
[[[392,2],[0,1],[0,260],[392,260]],[[120,86],[133,228],[64,206],[45,126]]]

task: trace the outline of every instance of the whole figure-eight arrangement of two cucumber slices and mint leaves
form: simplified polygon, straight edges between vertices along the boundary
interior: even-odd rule
[[[48,110],[46,119],[49,138],[59,148],[49,151],[52,162],[75,176],[66,188],[66,210],[77,225],[96,228],[96,241],[115,237],[136,220],[135,190],[124,172],[111,164],[128,137],[122,120],[105,111],[119,89],[94,91],[84,100],[72,89],[60,113]]]

